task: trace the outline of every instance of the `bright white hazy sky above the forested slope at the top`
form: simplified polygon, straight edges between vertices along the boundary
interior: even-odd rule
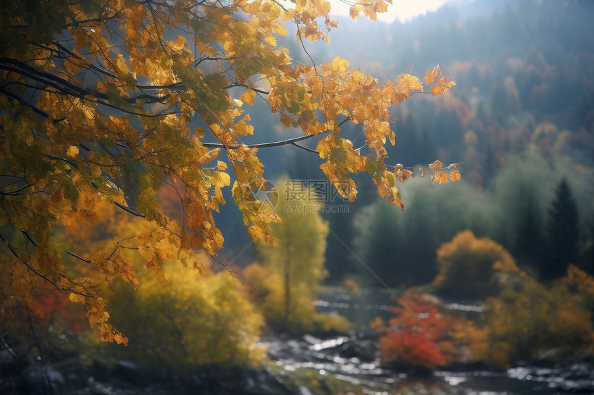
[[[342,0],[329,0],[332,3],[332,14],[348,15],[350,5]],[[348,1],[348,0],[347,0]],[[428,11],[437,10],[448,0],[393,0],[393,4],[388,6],[387,12],[378,14],[378,20],[383,22],[392,22],[395,19],[407,21],[417,15],[425,14]],[[352,3],[351,1],[348,1]],[[361,13],[363,16],[363,12]]]

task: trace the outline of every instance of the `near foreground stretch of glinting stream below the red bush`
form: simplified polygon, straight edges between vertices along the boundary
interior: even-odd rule
[[[304,381],[302,395],[349,392],[353,395],[594,394],[593,369],[585,363],[546,369],[516,367],[506,372],[438,370],[428,375],[410,376],[384,369],[379,358],[369,361],[349,356],[356,347],[361,347],[365,354],[367,341],[371,340],[347,336],[319,339],[305,335],[300,340],[276,339],[267,345],[284,378],[292,376],[294,383],[299,381],[295,381],[296,377]],[[328,380],[334,383],[332,387],[349,392],[316,392],[316,385],[310,385]]]

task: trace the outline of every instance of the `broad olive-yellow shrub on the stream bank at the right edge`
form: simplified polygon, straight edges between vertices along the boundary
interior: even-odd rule
[[[545,287],[530,276],[522,276],[488,301],[483,361],[505,368],[519,361],[534,361],[548,350],[572,354],[594,341],[588,296],[568,285],[587,286],[592,278],[570,268],[568,276],[553,287]],[[577,278],[577,279],[576,279]],[[561,361],[559,361],[561,362]]]

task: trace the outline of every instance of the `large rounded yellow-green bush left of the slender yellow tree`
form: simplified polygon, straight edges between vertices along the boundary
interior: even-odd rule
[[[203,260],[204,261],[204,260]],[[262,316],[227,272],[200,274],[167,263],[162,286],[154,275],[135,292],[119,284],[110,298],[113,322],[130,339],[113,351],[153,369],[195,365],[249,366],[263,358],[256,346]]]

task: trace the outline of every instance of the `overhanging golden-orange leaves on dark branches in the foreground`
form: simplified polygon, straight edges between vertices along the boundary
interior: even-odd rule
[[[365,1],[352,16],[363,11],[374,19],[386,6]],[[253,194],[267,188],[258,160],[258,148],[267,145],[244,141],[254,132],[245,108],[257,97],[285,127],[303,132],[298,139],[318,136],[325,175],[336,187],[347,182],[338,188],[342,196],[356,197],[349,174],[368,172],[381,196],[404,207],[396,179],[410,174],[385,163],[385,144],[394,144],[390,107],[423,90],[423,83],[410,74],[380,83],[339,58],[320,65],[292,61],[277,37],[291,23],[302,44],[329,41],[337,25],[329,10],[325,0],[298,0],[290,8],[262,0],[6,3],[0,15],[0,226],[10,232],[0,237],[13,257],[4,270],[14,279],[3,292],[29,303],[36,281],[50,283],[86,305],[104,341],[126,343],[107,322],[97,284],[78,268],[140,286],[133,262],[119,253],[122,240],[108,250],[73,251],[55,241],[58,227],[97,221],[99,201],[151,221],[155,231],[128,238],[164,283],[164,261],[199,268],[196,249],[215,256],[222,248],[213,211],[225,203],[222,188],[231,187],[253,240],[271,243],[268,224],[279,218],[258,210],[264,203]],[[453,82],[438,67],[425,74],[428,84],[439,94]],[[240,97],[231,95],[233,88]],[[362,125],[365,150],[341,137],[346,121]],[[439,168],[432,164],[434,179],[447,181]],[[182,221],[162,212],[155,195],[163,183],[175,185]],[[75,267],[66,267],[66,255],[77,259]]]

